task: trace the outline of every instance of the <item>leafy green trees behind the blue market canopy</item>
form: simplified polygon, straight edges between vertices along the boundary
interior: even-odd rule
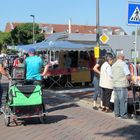
[[[36,42],[44,40],[44,34],[38,24],[34,25],[34,37]],[[7,52],[6,46],[26,45],[33,43],[33,24],[25,23],[16,26],[11,32],[0,31],[0,51]]]

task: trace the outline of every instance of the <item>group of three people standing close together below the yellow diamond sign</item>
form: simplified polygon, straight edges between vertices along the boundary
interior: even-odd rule
[[[93,109],[101,108],[106,113],[114,111],[115,117],[126,119],[128,118],[127,88],[131,81],[131,73],[124,60],[125,56],[121,53],[116,58],[106,55],[94,66]],[[114,94],[114,103],[110,102],[112,94]],[[101,100],[99,107],[97,107],[98,96]]]

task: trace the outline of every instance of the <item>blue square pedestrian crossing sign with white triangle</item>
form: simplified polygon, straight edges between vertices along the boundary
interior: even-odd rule
[[[136,2],[128,3],[128,24],[130,25],[140,24],[140,3]]]

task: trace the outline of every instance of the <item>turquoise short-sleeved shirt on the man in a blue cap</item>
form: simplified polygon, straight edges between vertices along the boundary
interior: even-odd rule
[[[43,61],[39,56],[29,56],[25,59],[26,79],[41,80],[41,68]]]

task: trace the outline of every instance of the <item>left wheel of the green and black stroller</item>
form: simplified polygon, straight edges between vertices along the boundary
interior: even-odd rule
[[[9,124],[10,124],[10,112],[11,112],[10,107],[8,105],[5,105],[5,107],[4,107],[4,114],[5,114],[4,123],[6,126],[9,126]]]

